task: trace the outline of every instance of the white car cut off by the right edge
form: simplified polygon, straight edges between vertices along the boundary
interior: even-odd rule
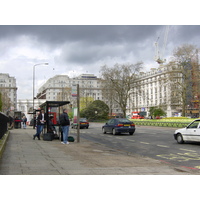
[[[185,141],[200,142],[200,119],[194,120],[185,128],[176,130],[174,138],[179,144]]]

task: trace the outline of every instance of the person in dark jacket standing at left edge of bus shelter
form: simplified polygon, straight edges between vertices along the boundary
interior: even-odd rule
[[[47,115],[46,113],[44,113],[44,109],[41,109],[40,114],[38,115],[37,121],[36,121],[37,128],[36,128],[36,134],[33,135],[34,140],[36,137],[38,138],[38,140],[40,140],[40,134],[44,128],[46,121],[47,121]]]

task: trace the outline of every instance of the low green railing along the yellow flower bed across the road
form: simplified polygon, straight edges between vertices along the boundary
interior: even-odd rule
[[[189,123],[188,122],[154,122],[152,121],[134,121],[135,125],[141,126],[161,126],[161,127],[174,127],[174,128],[184,128]]]

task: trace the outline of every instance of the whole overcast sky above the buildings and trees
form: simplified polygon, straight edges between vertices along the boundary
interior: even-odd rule
[[[162,49],[166,26],[0,26],[0,73],[17,80],[18,99],[32,99],[33,66],[36,92],[57,74],[70,77],[82,73],[99,76],[102,65],[143,61],[144,71],[158,67],[154,43]],[[165,58],[182,44],[200,47],[200,26],[169,26]]]

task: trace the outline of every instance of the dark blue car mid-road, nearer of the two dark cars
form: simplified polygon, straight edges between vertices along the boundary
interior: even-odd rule
[[[115,118],[110,119],[104,126],[102,126],[102,132],[112,133],[113,135],[117,133],[129,133],[133,135],[135,132],[135,124],[126,118]]]

